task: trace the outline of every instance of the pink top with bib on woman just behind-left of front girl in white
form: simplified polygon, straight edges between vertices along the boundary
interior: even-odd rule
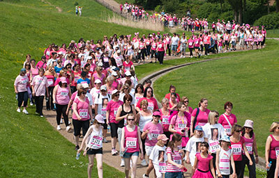
[[[89,120],[89,100],[85,98],[85,102],[81,102],[80,99],[76,97],[74,103],[77,104],[77,113],[80,115],[80,118],[82,118],[83,121]],[[73,114],[73,120],[77,120],[75,113]]]

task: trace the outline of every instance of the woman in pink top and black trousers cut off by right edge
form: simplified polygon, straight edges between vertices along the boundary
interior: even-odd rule
[[[267,178],[273,178],[274,172],[276,169],[276,157],[279,155],[279,122],[273,122],[269,129],[270,132],[273,132],[266,139],[266,170]],[[271,166],[269,165],[271,163]]]

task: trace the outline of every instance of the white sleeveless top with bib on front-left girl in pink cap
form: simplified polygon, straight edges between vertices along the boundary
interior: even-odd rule
[[[100,131],[96,131],[93,127],[93,131],[89,135],[87,147],[89,147],[89,149],[100,149],[103,147],[103,131],[101,128]]]

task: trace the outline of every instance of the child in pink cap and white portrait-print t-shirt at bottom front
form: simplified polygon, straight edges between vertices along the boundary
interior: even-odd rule
[[[155,170],[155,174],[157,178],[161,178],[163,177],[163,171],[165,170],[165,163],[167,161],[167,154],[165,154],[165,144],[167,143],[167,140],[169,140],[169,138],[167,138],[167,136],[165,136],[165,134],[161,134],[158,136],[157,138],[158,142],[156,143],[156,145],[153,147],[152,152],[149,156],[149,160],[152,161],[153,163],[153,168]],[[146,171],[146,173],[148,173]],[[147,177],[146,174],[144,174],[144,176],[142,177]]]

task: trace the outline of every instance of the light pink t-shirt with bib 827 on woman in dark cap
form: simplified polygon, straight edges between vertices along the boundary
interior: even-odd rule
[[[149,133],[147,134],[145,145],[149,147],[153,147],[157,143],[158,135],[163,133],[163,128],[160,123],[153,124],[152,122],[148,122],[144,125],[144,129],[142,131],[149,130]]]

